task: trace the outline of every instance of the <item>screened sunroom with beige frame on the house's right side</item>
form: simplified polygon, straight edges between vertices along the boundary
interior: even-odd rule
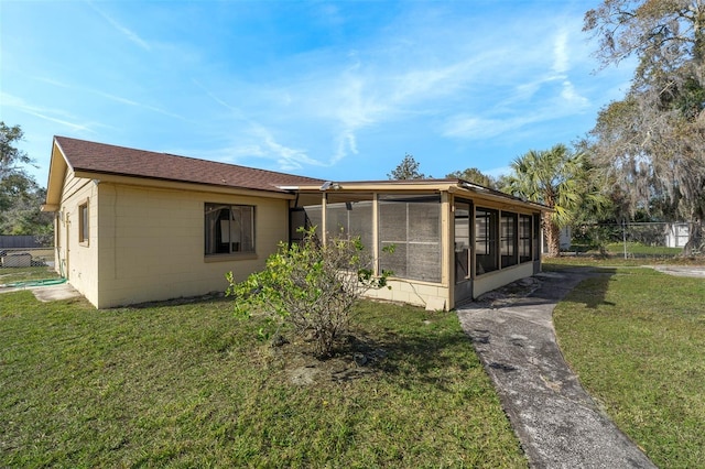
[[[300,227],[360,237],[375,270],[393,272],[372,297],[451,309],[541,268],[546,207],[462,179],[326,183],[296,192],[291,240]],[[392,250],[386,249],[393,247]]]

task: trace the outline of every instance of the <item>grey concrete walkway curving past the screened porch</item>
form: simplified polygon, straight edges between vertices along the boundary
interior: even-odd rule
[[[654,468],[585,392],[555,341],[553,308],[588,270],[543,273],[528,295],[457,310],[534,468]],[[531,283],[533,282],[533,283]]]

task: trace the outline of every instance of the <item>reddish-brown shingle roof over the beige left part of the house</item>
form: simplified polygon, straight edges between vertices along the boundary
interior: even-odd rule
[[[148,152],[85,140],[55,137],[75,171],[177,181],[256,190],[283,192],[276,186],[322,184],[322,179],[167,153]]]

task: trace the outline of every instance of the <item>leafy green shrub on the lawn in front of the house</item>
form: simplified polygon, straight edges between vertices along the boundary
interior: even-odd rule
[[[359,238],[335,238],[323,244],[315,228],[304,231],[301,243],[280,243],[261,272],[240,283],[232,272],[226,277],[228,296],[236,298],[236,314],[265,314],[275,327],[290,325],[301,337],[312,339],[319,358],[330,356],[335,339],[347,329],[352,307],[370,288],[387,285],[391,272],[376,276],[372,260]],[[271,330],[260,330],[272,337]]]

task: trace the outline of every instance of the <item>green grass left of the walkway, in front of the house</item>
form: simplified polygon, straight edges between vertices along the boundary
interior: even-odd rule
[[[231,308],[0,295],[0,466],[527,466],[454,314],[364,303],[318,362]]]

